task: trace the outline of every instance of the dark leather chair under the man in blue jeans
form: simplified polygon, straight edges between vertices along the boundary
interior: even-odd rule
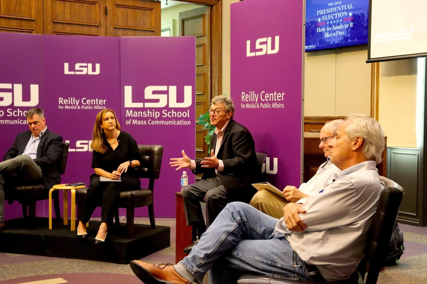
[[[385,183],[385,187],[380,195],[377,211],[374,215],[368,242],[366,243],[366,256],[360,261],[357,270],[350,278],[343,281],[294,281],[281,278],[269,278],[257,275],[242,275],[237,280],[237,284],[375,284],[377,283],[380,269],[384,267],[384,262],[389,249],[390,238],[392,236],[399,206],[404,194],[403,188],[392,180],[380,177]],[[369,261],[369,272],[365,282],[366,263]]]

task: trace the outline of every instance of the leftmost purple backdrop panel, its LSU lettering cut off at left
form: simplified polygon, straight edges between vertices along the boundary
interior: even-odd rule
[[[43,108],[42,85],[41,35],[0,32],[1,161],[18,133],[29,130],[27,110]],[[38,210],[43,208],[38,205]],[[5,219],[22,216],[18,202],[11,205],[6,202],[5,207]]]

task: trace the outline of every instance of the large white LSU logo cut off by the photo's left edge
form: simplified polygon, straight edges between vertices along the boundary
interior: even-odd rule
[[[13,84],[13,100],[15,107],[35,107],[38,105],[38,85],[30,84],[30,99],[23,101],[22,84]],[[12,84],[0,83],[0,89],[12,89]],[[12,92],[0,92],[0,106],[5,107],[12,104]]]

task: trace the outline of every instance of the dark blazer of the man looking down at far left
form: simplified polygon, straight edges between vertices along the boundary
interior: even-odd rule
[[[24,131],[18,134],[12,147],[6,152],[3,161],[13,159],[19,156],[25,150],[28,140],[31,137],[31,131]],[[33,161],[41,168],[43,174],[44,186],[47,189],[53,185],[61,183],[61,161],[59,157],[62,154],[62,136],[46,130],[41,136],[37,148],[37,158]]]

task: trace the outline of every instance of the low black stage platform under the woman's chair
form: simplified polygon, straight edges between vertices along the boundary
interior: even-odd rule
[[[96,244],[100,223],[90,221],[89,238],[80,240],[77,231],[70,231],[70,225],[64,226],[62,220],[53,220],[52,230],[48,218],[37,217],[35,230],[29,230],[22,218],[7,220],[0,232],[0,252],[128,264],[170,246],[170,227],[151,229],[150,225],[135,224],[134,238],[129,240],[126,223],[109,226],[105,243]]]

